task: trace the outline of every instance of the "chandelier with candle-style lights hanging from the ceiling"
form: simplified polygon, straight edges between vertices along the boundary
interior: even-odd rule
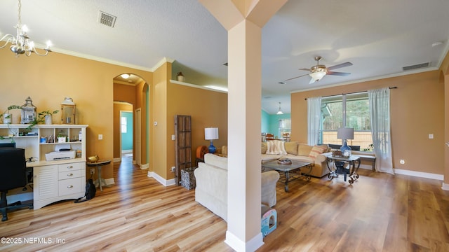
[[[45,53],[39,53],[36,48],[34,48],[34,42],[29,41],[29,37],[27,36],[27,26],[22,25],[22,20],[20,19],[20,8],[22,8],[22,3],[19,0],[19,8],[18,8],[18,24],[15,26],[17,29],[17,35],[13,36],[12,34],[6,34],[0,41],[5,41],[4,45],[1,45],[0,48],[6,47],[8,43],[11,43],[11,51],[15,53],[16,56],[21,54],[25,54],[27,56],[31,56],[32,52],[36,53],[39,56],[46,56],[48,52],[51,52],[50,45],[51,42],[47,42],[47,47],[44,48]]]

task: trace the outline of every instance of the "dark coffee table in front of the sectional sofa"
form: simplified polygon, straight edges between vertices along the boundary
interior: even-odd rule
[[[262,170],[271,169],[284,173],[284,175],[286,176],[286,181],[284,182],[285,184],[284,190],[286,190],[286,192],[288,192],[288,182],[300,179],[302,177],[304,177],[307,181],[309,181],[311,168],[312,166],[309,162],[302,162],[298,160],[292,160],[292,163],[289,165],[279,164],[278,160],[269,160],[262,162]],[[293,171],[296,172],[296,176],[293,176],[293,178],[290,179],[290,172]]]

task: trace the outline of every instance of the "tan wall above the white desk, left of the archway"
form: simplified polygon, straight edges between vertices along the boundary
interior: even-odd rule
[[[113,158],[113,78],[121,73],[135,73],[151,80],[152,73],[116,66],[90,59],[52,52],[46,57],[24,55],[16,58],[7,49],[0,50],[0,109],[11,104],[25,104],[30,96],[37,111],[60,109],[64,97],[76,103],[76,123],[89,125],[86,155]],[[55,115],[59,118],[60,113]],[[55,122],[57,120],[53,120]],[[103,140],[98,140],[98,134]],[[112,165],[103,168],[102,176],[112,178]]]

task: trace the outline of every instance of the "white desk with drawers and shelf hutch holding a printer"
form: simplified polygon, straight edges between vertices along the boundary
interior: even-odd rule
[[[27,167],[33,169],[34,209],[60,200],[83,197],[86,187],[86,128],[88,125],[0,125],[0,143],[15,141],[25,149]],[[29,133],[31,132],[31,133]],[[80,134],[81,133],[81,134]],[[58,142],[58,135],[65,142]],[[81,135],[81,139],[79,136]],[[62,139],[61,139],[62,140]],[[68,146],[76,158],[46,161],[46,153]],[[27,200],[27,199],[23,199]]]

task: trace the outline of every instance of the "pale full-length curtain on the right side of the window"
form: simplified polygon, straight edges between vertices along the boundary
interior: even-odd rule
[[[370,100],[371,134],[373,135],[375,169],[394,174],[391,158],[390,90],[368,90]]]

